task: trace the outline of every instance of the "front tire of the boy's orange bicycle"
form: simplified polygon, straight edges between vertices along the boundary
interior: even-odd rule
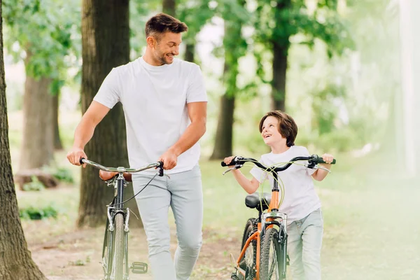
[[[273,249],[271,255],[270,249]],[[282,258],[283,247],[279,244],[279,231],[275,228],[269,228],[261,242],[260,280],[286,279]],[[274,274],[274,272],[276,273]]]

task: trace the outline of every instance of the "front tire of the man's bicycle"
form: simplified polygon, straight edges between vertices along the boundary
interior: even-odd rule
[[[125,231],[124,215],[117,213],[114,218],[115,239],[113,250],[113,277],[115,280],[124,279],[124,252],[125,252]]]

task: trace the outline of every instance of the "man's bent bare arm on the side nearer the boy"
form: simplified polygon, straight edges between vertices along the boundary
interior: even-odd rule
[[[179,155],[194,146],[206,132],[207,102],[188,103],[187,109],[191,123],[179,140],[160,156],[159,160],[163,161],[164,169],[176,167]]]

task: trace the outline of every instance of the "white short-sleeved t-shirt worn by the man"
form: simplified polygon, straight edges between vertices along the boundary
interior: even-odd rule
[[[152,66],[139,57],[113,68],[94,101],[110,109],[123,104],[130,167],[139,168],[157,162],[179,140],[191,123],[187,104],[207,102],[207,93],[197,64],[174,59],[172,64]],[[199,158],[197,142],[165,173],[193,169]]]

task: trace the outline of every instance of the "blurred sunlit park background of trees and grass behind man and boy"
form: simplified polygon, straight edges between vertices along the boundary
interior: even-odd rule
[[[420,279],[420,1],[131,0],[125,9],[111,2],[3,1],[13,173],[25,236],[45,275],[102,272],[91,260],[100,257],[106,208],[92,212],[83,197],[111,191],[65,155],[97,86],[113,66],[144,53],[144,25],[164,11],[188,25],[179,58],[200,65],[209,97],[200,141],[204,246],[193,279],[229,279],[230,253],[239,255],[246,218],[256,213],[231,174],[221,175],[220,160],[267,153],[258,123],[271,109],[293,116],[297,145],[337,158],[316,183],[323,279]],[[84,21],[92,14],[93,27]],[[104,62],[122,49],[123,59]],[[116,108],[106,121],[125,134],[121,117]],[[116,137],[108,133],[97,130],[87,155],[127,165],[125,139],[107,149]],[[130,246],[141,246],[133,253],[147,258],[141,224],[133,232]]]

